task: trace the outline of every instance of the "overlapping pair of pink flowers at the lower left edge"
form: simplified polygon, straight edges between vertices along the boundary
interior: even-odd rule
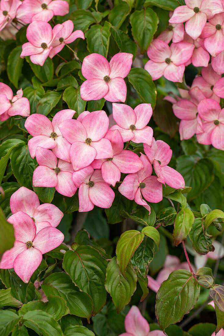
[[[1,259],[0,268],[14,268],[16,274],[28,283],[42,260],[42,254],[58,247],[64,235],[56,226],[63,212],[53,204],[41,204],[31,190],[21,187],[10,198],[15,242]],[[24,262],[25,261],[25,262]]]

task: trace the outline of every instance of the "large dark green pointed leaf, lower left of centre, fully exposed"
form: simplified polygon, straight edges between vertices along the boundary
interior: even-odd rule
[[[67,251],[64,255],[62,266],[74,283],[91,296],[94,316],[106,303],[107,264],[107,260],[92,246],[79,246],[75,252]]]

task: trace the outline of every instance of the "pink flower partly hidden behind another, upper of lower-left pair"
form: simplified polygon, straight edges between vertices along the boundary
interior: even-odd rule
[[[64,216],[63,212],[53,204],[44,203],[40,205],[38,196],[26,187],[20,187],[12,194],[10,198],[10,209],[12,214],[19,211],[27,213],[33,219],[37,233],[43,227],[58,226]]]

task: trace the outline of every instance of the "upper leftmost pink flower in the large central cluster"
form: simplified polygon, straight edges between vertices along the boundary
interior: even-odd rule
[[[25,127],[33,136],[33,138],[28,141],[32,158],[36,156],[37,146],[40,146],[52,149],[52,152],[57,158],[71,162],[69,155],[71,144],[62,136],[58,125],[63,121],[71,120],[75,113],[74,110],[59,111],[53,117],[52,123],[46,116],[38,113],[34,113],[27,118]]]

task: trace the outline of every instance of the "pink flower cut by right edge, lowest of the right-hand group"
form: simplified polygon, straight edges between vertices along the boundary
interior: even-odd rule
[[[197,107],[201,117],[204,133],[197,134],[197,141],[202,144],[212,144],[224,151],[224,109],[214,99],[203,99]]]

